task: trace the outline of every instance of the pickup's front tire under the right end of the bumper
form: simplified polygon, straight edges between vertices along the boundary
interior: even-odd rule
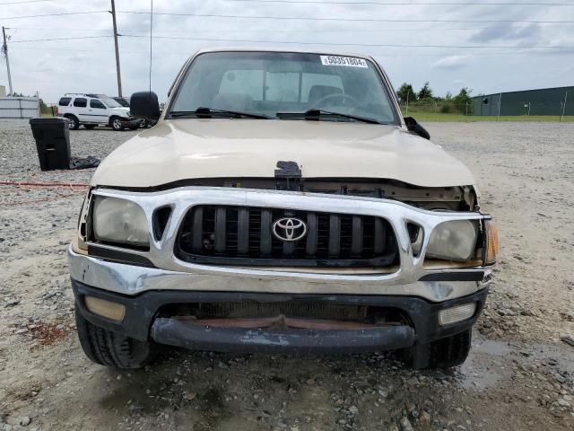
[[[414,369],[450,368],[465,362],[470,351],[472,330],[446,339],[420,344],[404,350],[404,362]]]

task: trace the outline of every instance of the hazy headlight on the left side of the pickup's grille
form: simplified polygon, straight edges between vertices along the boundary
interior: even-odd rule
[[[147,219],[142,207],[118,198],[96,197],[93,234],[97,241],[135,246],[149,245]]]

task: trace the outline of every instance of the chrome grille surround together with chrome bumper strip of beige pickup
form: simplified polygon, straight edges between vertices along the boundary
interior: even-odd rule
[[[435,226],[449,220],[482,220],[476,212],[433,212],[402,202],[376,198],[358,198],[260,189],[185,187],[159,192],[136,193],[115,189],[95,189],[93,195],[124,198],[143,208],[152,232],[152,214],[159,207],[172,207],[163,238],[150,235],[149,251],[129,251],[152,262],[155,268],[111,262],[68,251],[71,276],[88,286],[124,295],[148,290],[197,290],[226,292],[267,292],[291,294],[413,295],[432,302],[470,295],[483,284],[475,281],[419,281],[422,277],[452,273],[481,273],[488,268],[425,269],[423,261],[428,239]],[[239,205],[278,207],[307,211],[330,211],[363,216],[381,216],[396,233],[400,268],[384,274],[349,274],[297,272],[294,268],[230,268],[185,262],[174,255],[177,233],[184,216],[195,205]],[[407,222],[420,224],[424,230],[422,249],[413,256]],[[126,249],[98,244],[109,251]]]

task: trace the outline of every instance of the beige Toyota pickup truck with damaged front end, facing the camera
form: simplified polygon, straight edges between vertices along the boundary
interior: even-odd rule
[[[100,164],[68,256],[96,363],[160,345],[465,361],[498,233],[371,57],[218,48]]]

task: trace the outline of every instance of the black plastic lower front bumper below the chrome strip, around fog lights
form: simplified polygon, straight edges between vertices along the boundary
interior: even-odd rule
[[[134,339],[151,339],[160,344],[199,350],[283,353],[393,350],[442,339],[467,330],[474,324],[483,309],[488,290],[483,288],[472,295],[442,303],[431,303],[422,298],[404,295],[282,295],[164,290],[126,296],[87,286],[74,279],[72,286],[78,311],[83,317],[97,326]],[[85,296],[123,304],[126,307],[124,320],[109,321],[88,311],[84,303]],[[206,326],[192,321],[157,317],[161,307],[168,304],[239,301],[300,301],[391,307],[408,316],[409,323],[358,330],[244,329]],[[448,326],[439,326],[441,310],[471,302],[477,305],[472,318]]]

